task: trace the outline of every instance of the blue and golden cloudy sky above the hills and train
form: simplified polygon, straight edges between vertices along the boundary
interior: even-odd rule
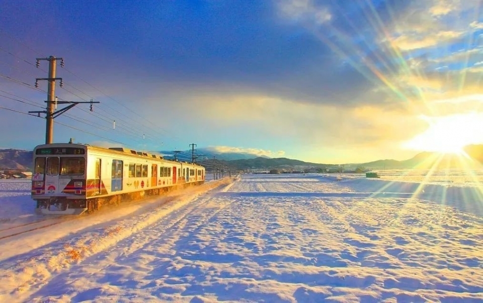
[[[3,0],[0,107],[41,110],[32,64],[54,55],[56,95],[101,102],[56,118],[54,142],[406,159],[483,142],[481,14],[474,0]],[[44,142],[43,119],[0,118],[0,147]]]

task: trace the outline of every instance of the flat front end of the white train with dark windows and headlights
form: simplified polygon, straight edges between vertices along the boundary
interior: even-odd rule
[[[43,215],[80,215],[87,211],[87,146],[44,144],[34,149],[32,199]]]

